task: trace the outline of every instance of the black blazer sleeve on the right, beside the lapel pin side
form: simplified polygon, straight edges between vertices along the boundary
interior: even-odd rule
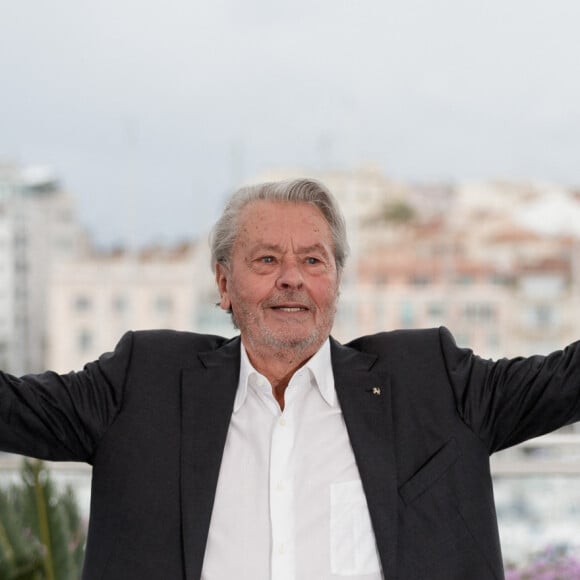
[[[446,328],[440,341],[458,412],[490,453],[580,420],[580,342],[493,362],[459,348]]]

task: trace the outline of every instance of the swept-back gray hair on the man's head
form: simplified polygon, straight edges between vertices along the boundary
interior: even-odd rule
[[[317,207],[330,227],[336,267],[339,273],[342,272],[349,251],[344,217],[334,196],[322,183],[314,179],[273,181],[238,189],[226,204],[210,234],[212,268],[216,264],[229,266],[238,235],[239,216],[247,205],[256,201],[309,203]]]

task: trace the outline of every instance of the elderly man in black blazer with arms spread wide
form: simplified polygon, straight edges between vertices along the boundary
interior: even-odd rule
[[[347,253],[309,180],[212,236],[240,337],[149,331],[0,377],[0,446],[93,465],[84,578],[503,577],[490,453],[580,419],[580,346],[491,362],[445,329],[329,338]]]

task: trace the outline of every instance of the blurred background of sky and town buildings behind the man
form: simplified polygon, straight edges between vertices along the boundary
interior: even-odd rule
[[[311,176],[351,260],[334,334],[445,324],[479,354],[580,328],[580,4],[0,0],[0,364],[129,329],[232,335],[207,234]],[[580,540],[580,429],[493,460],[506,562]],[[20,460],[0,455],[0,484]],[[51,467],[88,515],[87,467]]]

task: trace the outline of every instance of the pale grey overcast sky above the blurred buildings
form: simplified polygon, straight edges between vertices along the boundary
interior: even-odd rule
[[[578,0],[0,0],[0,160],[103,244],[272,167],[580,185]]]

